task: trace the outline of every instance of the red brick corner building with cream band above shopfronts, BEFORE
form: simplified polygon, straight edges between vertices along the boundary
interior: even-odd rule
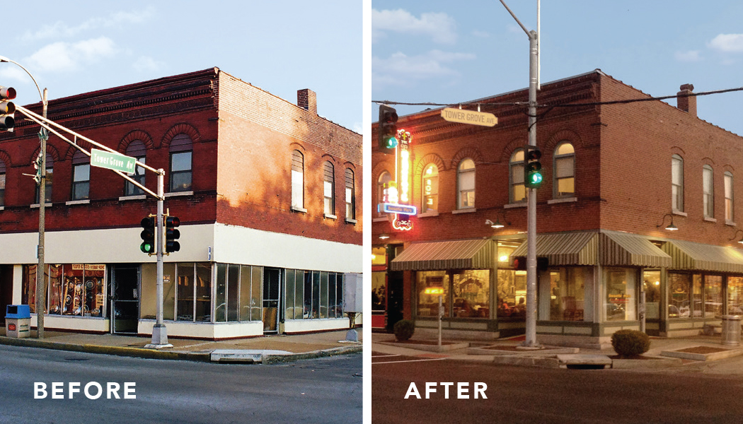
[[[181,250],[165,259],[171,336],[348,326],[343,273],[362,268],[361,136],[319,117],[313,91],[297,98],[210,68],[49,102],[56,123],[165,170],[165,207],[181,220]],[[35,302],[39,195],[24,174],[35,173],[38,132],[16,112],[16,131],[0,134],[3,308]],[[149,333],[155,257],[139,234],[155,199],[54,135],[47,163],[45,327]],[[154,173],[134,178],[157,192]]]

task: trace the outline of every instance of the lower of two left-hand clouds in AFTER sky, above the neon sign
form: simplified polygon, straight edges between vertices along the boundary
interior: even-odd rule
[[[452,53],[431,50],[418,56],[394,53],[389,58],[371,58],[372,79],[375,85],[402,85],[417,79],[459,76],[448,64],[475,59],[473,53]]]

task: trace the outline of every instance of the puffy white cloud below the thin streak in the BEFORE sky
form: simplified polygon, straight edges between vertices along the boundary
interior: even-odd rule
[[[80,42],[55,42],[36,50],[25,62],[29,66],[51,72],[66,72],[80,69],[116,53],[114,42],[108,37],[82,40]]]

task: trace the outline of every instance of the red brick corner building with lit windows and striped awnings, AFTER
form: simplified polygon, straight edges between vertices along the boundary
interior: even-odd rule
[[[661,336],[743,312],[743,138],[699,119],[693,96],[678,107],[606,104],[649,97],[598,70],[539,91],[539,104],[554,106],[539,108],[536,129],[545,175],[536,191],[539,342],[606,344],[615,330],[640,328],[643,308],[646,332]],[[526,275],[514,259],[526,255],[527,100],[520,90],[472,102],[498,117],[492,128],[447,122],[440,109],[400,117],[418,214],[398,230],[372,212],[375,326],[386,313],[388,324],[404,316],[432,330],[438,299],[424,288],[443,285],[446,331],[523,332]],[[373,149],[377,205],[395,156]]]

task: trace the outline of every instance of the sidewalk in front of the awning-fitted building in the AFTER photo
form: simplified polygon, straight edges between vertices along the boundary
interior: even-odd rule
[[[418,340],[420,343],[415,344]],[[543,346],[541,350],[521,350],[523,336],[498,339],[492,342],[444,339],[443,350],[437,349],[437,340],[413,336],[411,342],[395,342],[388,333],[372,333],[369,348],[380,356],[435,356],[481,364],[526,365],[545,368],[565,368],[567,365],[605,365],[606,368],[704,368],[704,372],[743,374],[743,346],[723,345],[721,336],[690,336],[679,338],[651,337],[648,359],[614,359],[614,349],[565,348]],[[537,337],[537,342],[539,338]],[[451,349],[447,349],[450,346]],[[384,360],[384,359],[380,359]],[[714,364],[714,365],[713,365]]]

